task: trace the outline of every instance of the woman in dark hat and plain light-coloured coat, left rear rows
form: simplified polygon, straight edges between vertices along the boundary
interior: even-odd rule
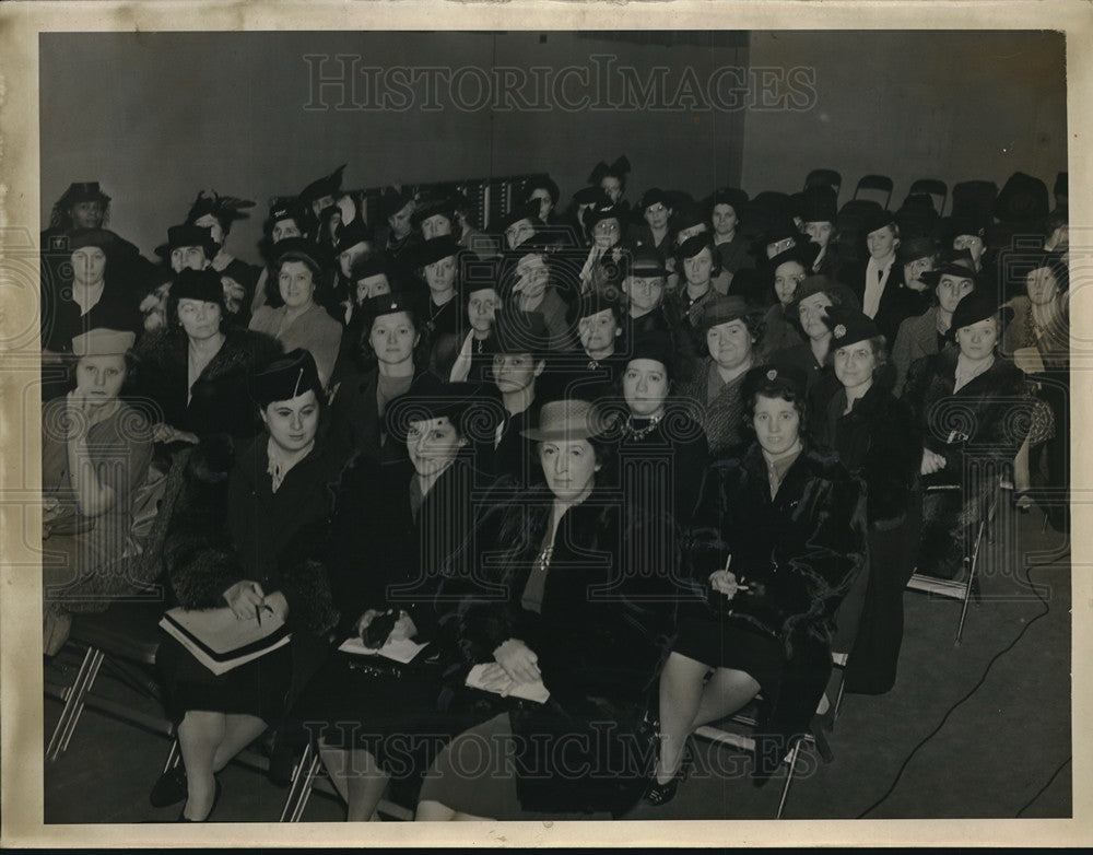
[[[342,325],[324,308],[327,273],[318,250],[299,238],[278,247],[267,305],[250,319],[250,329],[272,336],[285,350],[303,348],[315,359],[319,380],[326,386],[341,345]]]

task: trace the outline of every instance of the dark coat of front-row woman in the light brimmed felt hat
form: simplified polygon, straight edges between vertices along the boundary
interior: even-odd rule
[[[507,639],[520,639],[538,655],[551,696],[542,706],[512,713],[521,751],[531,745],[550,748],[559,739],[572,746],[593,734],[597,724],[622,737],[621,745],[608,740],[608,750],[616,752],[610,760],[595,748],[580,758],[566,754],[563,762],[598,772],[588,776],[566,775],[541,756],[521,753],[528,764],[522,768],[541,773],[518,771],[521,805],[529,810],[622,812],[647,783],[651,753],[643,751],[637,734],[674,631],[675,599],[683,592],[671,552],[671,522],[593,490],[562,517],[537,614],[520,600],[543,548],[552,501],[550,490],[538,487],[483,517],[465,547],[474,557],[465,564],[481,572],[478,593],[449,620],[456,623],[465,667],[493,661],[494,649]],[[545,753],[557,763],[556,754],[565,752]]]

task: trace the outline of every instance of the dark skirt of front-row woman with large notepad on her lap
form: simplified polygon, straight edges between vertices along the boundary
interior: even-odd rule
[[[254,715],[280,721],[293,677],[293,644],[214,675],[174,637],[161,632],[155,664],[167,690],[167,713],[178,724],[189,710]]]

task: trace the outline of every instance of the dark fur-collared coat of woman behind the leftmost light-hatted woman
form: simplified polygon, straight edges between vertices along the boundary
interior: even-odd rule
[[[279,341],[262,332],[228,327],[224,344],[193,382],[187,403],[189,340],[178,328],[146,333],[137,345],[141,394],[162,411],[161,421],[200,437],[226,433],[246,440],[260,422],[250,377],[281,355]]]

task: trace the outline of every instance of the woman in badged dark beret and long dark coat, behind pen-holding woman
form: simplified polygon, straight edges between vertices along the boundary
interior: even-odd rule
[[[915,572],[921,494],[918,469],[922,437],[906,402],[892,396],[884,372],[884,339],[878,326],[854,308],[827,311],[832,363],[841,388],[826,411],[815,414],[821,448],[866,483],[869,500],[869,562],[851,597],[861,605],[846,666],[848,692],[883,694],[895,684],[903,640],[903,590]],[[890,376],[890,375],[889,375]],[[863,583],[863,584],[862,584]],[[839,625],[839,633],[849,630]]]

